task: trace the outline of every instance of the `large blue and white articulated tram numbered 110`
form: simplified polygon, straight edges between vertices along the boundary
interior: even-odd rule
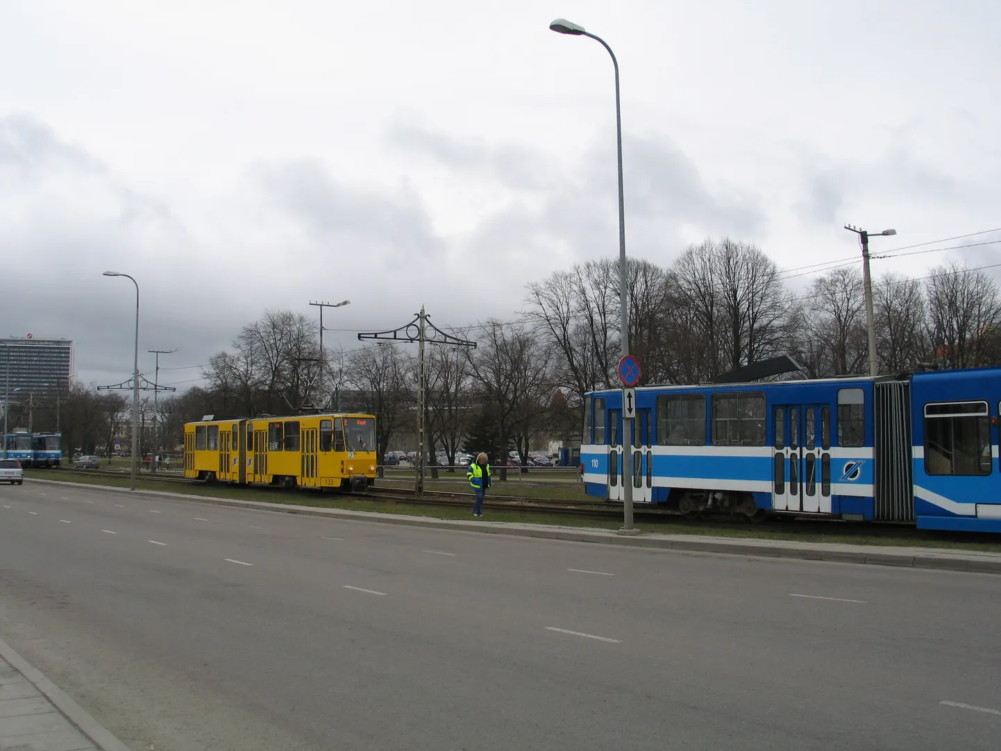
[[[729,512],[1001,532],[1001,368],[636,390],[633,477],[622,392],[589,394],[588,495]]]

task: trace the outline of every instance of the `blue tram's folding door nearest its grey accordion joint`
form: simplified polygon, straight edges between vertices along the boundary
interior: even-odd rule
[[[831,408],[776,405],[772,409],[772,508],[831,513]]]

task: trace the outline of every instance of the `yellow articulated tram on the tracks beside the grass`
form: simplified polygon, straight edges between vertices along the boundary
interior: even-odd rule
[[[354,491],[374,483],[371,415],[212,418],[184,426],[185,478]]]

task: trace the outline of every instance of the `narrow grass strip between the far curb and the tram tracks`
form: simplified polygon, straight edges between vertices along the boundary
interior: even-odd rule
[[[128,477],[109,478],[88,476],[60,470],[27,470],[28,479],[60,480],[81,485],[128,488]],[[276,491],[268,488],[238,488],[225,484],[202,485],[192,483],[162,483],[142,480],[136,482],[137,490],[180,493],[189,496],[209,496],[237,501],[260,501],[272,504],[310,506],[321,509],[404,514],[433,519],[469,519],[469,508],[461,506],[431,506],[405,501],[372,501],[338,496],[331,493],[307,491]],[[430,490],[430,489],[428,489]],[[580,490],[579,488],[577,490]],[[533,493],[533,495],[535,495]],[[494,498],[500,494],[494,493]],[[575,497],[581,500],[582,495]],[[616,517],[598,519],[573,514],[533,513],[527,511],[490,508],[489,497],[483,509],[485,521],[514,524],[540,524],[583,529],[615,530],[622,526]],[[803,543],[832,543],[849,545],[885,545],[893,547],[932,548],[939,550],[980,551],[1001,553],[1001,538],[996,535],[969,535],[935,532],[881,525],[860,525],[844,522],[802,521],[790,524],[764,523],[761,525],[740,522],[689,521],[680,517],[643,518],[637,526],[645,532],[665,535],[706,535],[710,537],[753,540],[790,540]]]

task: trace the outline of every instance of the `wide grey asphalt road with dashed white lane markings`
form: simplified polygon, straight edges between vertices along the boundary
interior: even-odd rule
[[[0,488],[0,635],[134,749],[990,749],[1001,577]]]

